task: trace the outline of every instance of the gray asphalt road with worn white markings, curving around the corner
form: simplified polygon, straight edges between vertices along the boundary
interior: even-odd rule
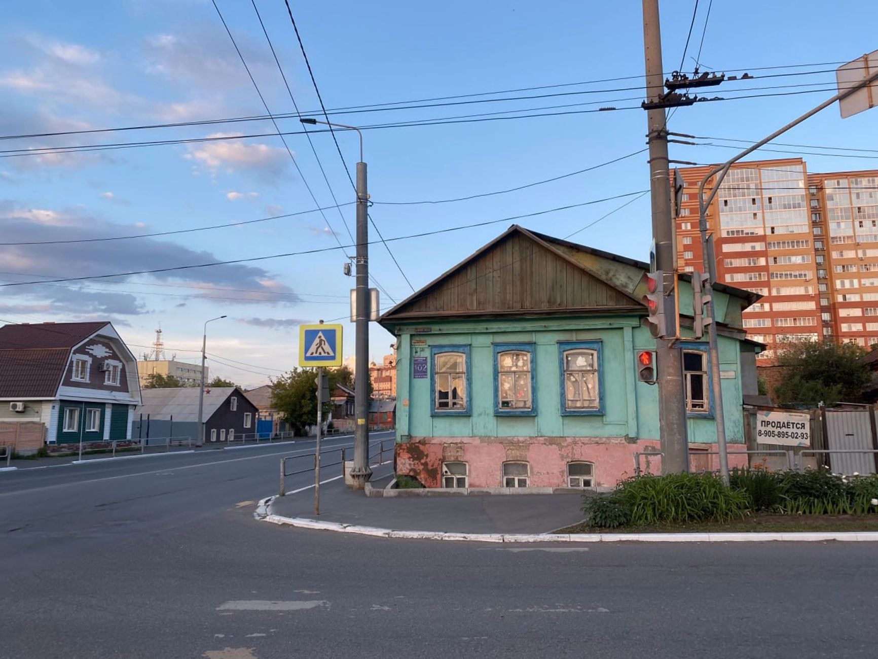
[[[308,450],[277,448],[0,474],[0,656],[878,655],[871,543],[298,530],[253,518],[277,454]]]

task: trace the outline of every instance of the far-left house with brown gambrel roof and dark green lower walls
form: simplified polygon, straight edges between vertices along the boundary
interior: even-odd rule
[[[139,403],[137,360],[110,322],[0,328],[0,444],[124,441]]]

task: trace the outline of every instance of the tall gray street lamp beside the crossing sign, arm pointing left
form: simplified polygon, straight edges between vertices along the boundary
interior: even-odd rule
[[[369,468],[369,193],[363,163],[363,133],[355,126],[333,124],[311,117],[303,124],[323,124],[356,130],[360,137],[360,162],[356,163],[356,373],[354,377],[354,468],[350,476],[355,489],[363,489],[372,475]]]

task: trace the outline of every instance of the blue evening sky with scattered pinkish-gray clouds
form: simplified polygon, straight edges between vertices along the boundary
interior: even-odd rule
[[[8,8],[0,25],[0,135],[264,117],[260,94],[273,114],[295,112],[295,102],[300,112],[320,118],[314,114],[320,99],[283,0],[255,0],[280,70],[254,5],[216,2],[255,85],[211,0],[31,0]],[[372,286],[381,290],[383,309],[514,222],[648,257],[649,197],[638,196],[649,185],[646,156],[637,153],[646,132],[639,108],[639,3],[290,6],[331,120],[395,124],[363,130],[371,218],[399,264],[383,244],[371,244]],[[837,64],[826,62],[878,48],[878,5],[864,0],[831,6],[701,0],[694,7],[694,0],[661,3],[665,70],[680,69],[694,13],[682,70],[691,73],[697,59],[702,71],[754,77],[702,92],[726,100],[673,112],[669,129],[698,137],[696,145],[672,145],[677,160],[717,163],[733,156],[745,141],[761,139],[832,95]],[[749,96],[760,98],[739,98]],[[617,109],[585,112],[600,107]],[[554,116],[523,116],[529,114]],[[437,119],[455,123],[399,126]],[[227,315],[209,325],[208,364],[212,374],[244,386],[295,366],[302,322],[344,322],[344,354],[351,354],[354,280],[342,267],[353,254],[354,192],[332,135],[315,132],[309,143],[298,117],[276,121],[277,127],[252,119],[0,141],[0,284],[294,253],[3,286],[0,321],[108,320],[135,354],[148,351],[161,326],[169,353],[194,361],[203,323]],[[801,156],[809,171],[872,169],[876,125],[878,110],[842,120],[831,107],[785,134],[778,140],[783,145],[769,147],[775,151],[752,157]],[[278,129],[296,134],[286,135],[284,146]],[[254,134],[261,136],[214,139]],[[336,138],[353,174],[356,134]],[[33,151],[40,148],[50,150]],[[20,155],[21,149],[31,152]],[[602,166],[572,174],[596,165]],[[561,178],[530,185],[555,177]],[[521,186],[527,187],[477,199],[399,204]],[[562,206],[573,207],[551,210]],[[248,224],[95,240],[235,222]],[[370,240],[378,241],[375,228],[370,231]],[[392,339],[372,323],[371,358],[380,361]]]

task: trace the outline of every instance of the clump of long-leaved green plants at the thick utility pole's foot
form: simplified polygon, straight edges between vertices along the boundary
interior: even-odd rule
[[[638,476],[616,491],[634,525],[726,522],[748,510],[745,492],[723,485],[715,474]]]

